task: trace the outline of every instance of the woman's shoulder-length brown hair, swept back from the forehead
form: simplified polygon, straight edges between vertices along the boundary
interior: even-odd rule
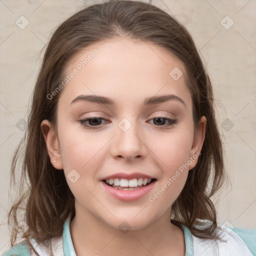
[[[215,119],[212,87],[209,76],[188,31],[177,20],[160,8],[145,2],[109,0],[89,5],[62,22],[52,34],[33,90],[28,128],[15,150],[11,179],[18,157],[22,157],[19,197],[8,213],[13,217],[11,245],[16,241],[17,210],[24,205],[24,221],[30,235],[43,243],[62,234],[68,214],[74,216],[74,196],[63,171],[56,170],[47,153],[40,123],[48,119],[56,125],[56,104],[59,93],[52,99],[46,95],[61,83],[69,59],[78,50],[110,37],[125,36],[148,41],[175,54],[186,68],[186,85],[191,93],[193,122],[207,119],[205,139],[196,166],[188,177],[178,198],[172,204],[171,222],[186,225],[192,234],[203,238],[217,238],[216,210],[210,197],[225,180],[223,149]],[[24,148],[24,155],[22,154]],[[24,188],[27,181],[28,187]],[[205,229],[194,225],[199,219],[211,222]],[[50,239],[49,239],[50,240]]]

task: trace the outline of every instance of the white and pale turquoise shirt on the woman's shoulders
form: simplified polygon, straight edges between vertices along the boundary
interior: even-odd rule
[[[56,256],[76,256],[70,235],[70,217],[67,217],[61,237],[52,238],[52,249]],[[209,220],[201,220],[204,225]],[[198,228],[202,228],[197,226]],[[226,227],[218,224],[219,237],[222,241],[215,239],[202,239],[194,236],[190,230],[182,224],[185,240],[185,256],[256,256],[256,229],[245,229],[237,227]],[[48,256],[49,248],[37,244],[29,239],[40,256]],[[21,241],[5,251],[2,256],[35,256],[34,251],[26,241]]]

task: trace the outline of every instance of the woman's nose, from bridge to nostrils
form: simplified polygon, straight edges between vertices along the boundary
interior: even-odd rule
[[[123,157],[126,161],[142,159],[146,156],[147,146],[142,129],[134,122],[123,118],[116,127],[110,153],[115,158]]]

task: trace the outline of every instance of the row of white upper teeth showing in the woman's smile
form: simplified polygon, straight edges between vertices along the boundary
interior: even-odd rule
[[[129,187],[137,187],[146,185],[151,182],[151,178],[132,178],[132,179],[126,179],[126,178],[109,178],[106,179],[106,183],[109,185],[114,185],[114,186],[121,186],[121,187],[126,187],[124,190],[128,190]],[[131,188],[132,189],[132,188]],[[131,190],[129,189],[129,190]]]

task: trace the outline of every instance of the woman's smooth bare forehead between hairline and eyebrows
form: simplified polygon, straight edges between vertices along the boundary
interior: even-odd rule
[[[68,104],[79,94],[135,102],[164,93],[176,94],[191,104],[184,64],[174,54],[151,42],[111,38],[91,44],[68,61],[64,74],[72,72],[75,75],[60,96]],[[173,72],[181,76],[175,80],[171,76]]]

